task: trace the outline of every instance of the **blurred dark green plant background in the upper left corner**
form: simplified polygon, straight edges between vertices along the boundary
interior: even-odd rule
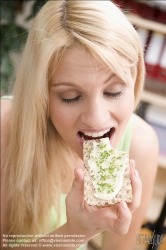
[[[1,0],[1,96],[10,94],[33,17],[47,0]]]

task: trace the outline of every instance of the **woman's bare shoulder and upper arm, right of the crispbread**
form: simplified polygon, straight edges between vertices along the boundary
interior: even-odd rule
[[[153,192],[158,168],[158,139],[153,128],[137,115],[133,115],[130,158],[142,181],[142,209],[146,211]]]

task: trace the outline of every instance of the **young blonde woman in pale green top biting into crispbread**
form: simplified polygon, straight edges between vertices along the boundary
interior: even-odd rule
[[[112,2],[44,5],[13,98],[2,100],[3,234],[84,235],[86,243],[104,232],[103,250],[133,249],[158,156],[154,131],[133,114],[144,75],[139,37]],[[80,134],[102,137],[106,130],[112,147],[132,159],[133,202],[97,208],[83,197]]]

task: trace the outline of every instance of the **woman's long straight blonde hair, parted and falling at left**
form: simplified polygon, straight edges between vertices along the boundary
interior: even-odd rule
[[[61,180],[71,175],[72,152],[49,118],[48,88],[61,57],[73,46],[87,49],[127,83],[120,55],[126,58],[137,74],[138,104],[143,53],[122,11],[109,1],[48,1],[34,19],[14,89],[5,161],[10,233],[46,233],[49,209],[58,209]]]

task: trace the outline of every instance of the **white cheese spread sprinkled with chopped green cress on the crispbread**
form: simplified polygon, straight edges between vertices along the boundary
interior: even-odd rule
[[[112,199],[122,188],[123,174],[128,156],[125,152],[113,150],[109,138],[93,140],[88,148],[90,175],[93,176],[94,196],[101,200]]]

